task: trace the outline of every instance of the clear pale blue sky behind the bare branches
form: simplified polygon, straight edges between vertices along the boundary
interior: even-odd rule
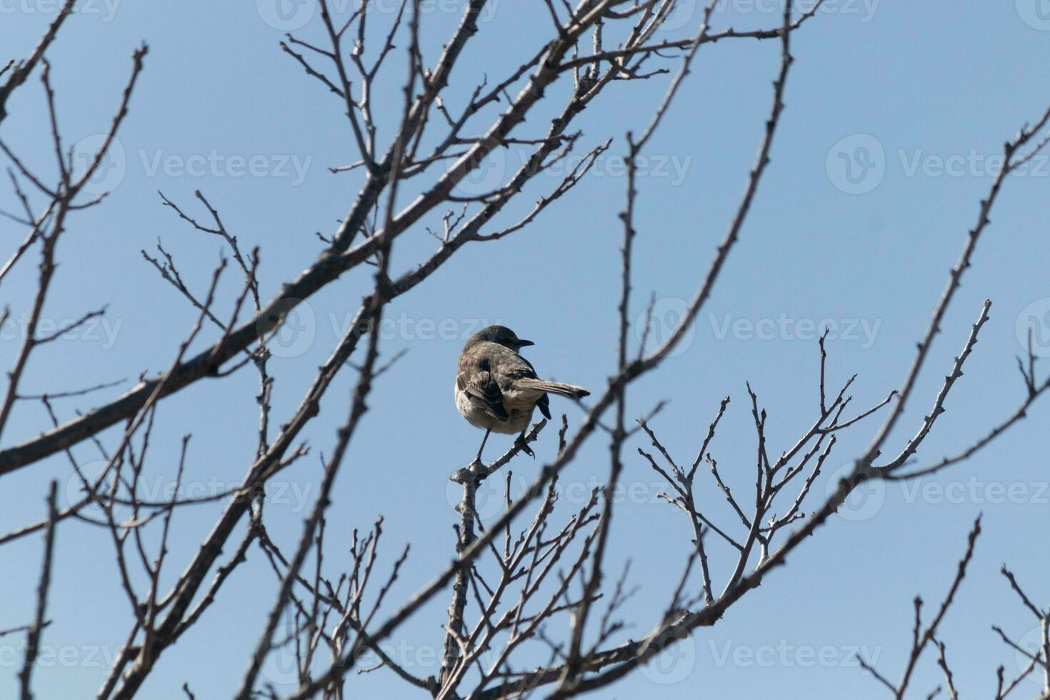
[[[27,55],[57,4],[0,0],[0,59]],[[60,323],[108,303],[106,324],[41,351],[23,387],[40,393],[129,381],[105,394],[58,402],[63,419],[117,396],[142,372],[166,368],[196,317],[140,250],[151,250],[162,239],[188,283],[203,291],[220,241],[178,221],[162,206],[158,190],[187,211],[206,215],[193,198],[201,189],[243,246],[259,246],[267,296],[316,258],[322,243],[315,232],[334,231],[352,201],[359,174],[328,170],[357,157],[340,104],[280,51],[282,31],[272,26],[279,22],[265,0],[257,4],[111,0],[107,5],[92,0],[67,22],[49,51],[63,136],[69,144],[84,139],[90,144],[105,131],[119,103],[132,50],[142,41],[150,47],[120,133],[123,155],[114,153],[100,183],[112,193],[103,206],[74,217],[62,239],[45,314]],[[462,4],[428,5],[432,12],[422,25],[426,64],[435,60]],[[698,15],[688,12],[695,4],[684,2],[687,12],[674,22],[679,28],[667,37],[695,31]],[[449,7],[456,12],[446,12]],[[453,77],[447,94],[454,105],[468,98],[484,73],[494,81],[524,62],[550,31],[550,18],[539,2],[502,0],[483,19],[481,34]],[[714,27],[771,27],[779,21],[773,0],[727,1],[715,13]],[[298,36],[317,38],[320,30],[319,18],[312,17]],[[855,406],[872,405],[900,385],[948,269],[976,219],[978,201],[992,182],[994,163],[988,158],[1050,101],[1050,7],[1041,0],[828,2],[794,36],[793,52],[797,61],[788,108],[741,240],[682,352],[629,394],[631,417],[645,415],[659,400],[670,402],[652,427],[684,462],[698,448],[721,397],[732,396],[712,452],[740,489],[753,483],[755,449],[744,381],[770,413],[770,449],[779,453],[815,416],[819,326],[832,322],[837,328],[828,342],[830,381],[859,374],[852,391]],[[673,320],[681,299],[692,296],[753,164],[778,60],[775,42],[735,40],[701,48],[640,172],[632,315],[640,315],[654,294],[659,318]],[[386,114],[400,108],[403,80],[400,64],[391,66],[376,96]],[[386,317],[394,324],[384,331],[383,355],[402,348],[407,354],[377,382],[369,400],[372,410],[336,482],[330,566],[344,557],[351,528],[365,529],[379,514],[385,517],[383,564],[404,543],[413,546],[391,600],[411,595],[449,560],[456,513],[447,475],[469,461],[481,438],[456,413],[452,385],[462,342],[480,325],[510,325],[537,342],[526,354],[542,375],[602,390],[615,362],[617,214],[626,187],[617,158],[626,152],[624,134],[648,124],[666,85],[665,76],[609,86],[574,128],[583,131],[581,149],[609,137],[613,145],[571,195],[509,238],[463,249],[424,285],[390,305]],[[552,104],[561,104],[570,89],[571,81],[563,79],[549,91]],[[530,116],[514,135],[541,135],[542,116],[551,108]],[[24,162],[50,173],[52,151],[36,77],[8,109],[0,137]],[[388,131],[380,133],[379,143],[388,137]],[[256,171],[246,174],[237,156],[258,156]],[[486,164],[482,183],[467,184],[464,191],[498,185],[519,158],[513,149],[500,153]],[[501,220],[516,220],[559,182],[560,175],[538,176]],[[403,201],[411,194],[405,192]],[[4,187],[0,207],[12,210],[16,204]],[[917,429],[986,298],[993,301],[991,321],[919,464],[970,444],[1023,399],[1014,356],[1023,351],[1018,327],[1023,331],[1029,318],[1037,319],[1036,351],[1050,355],[1048,204],[1050,163],[1040,160],[1008,179],[888,449],[903,446]],[[441,213],[436,210],[422,224],[439,227]],[[23,236],[17,225],[0,221],[5,251]],[[423,226],[415,227],[398,239],[395,268],[410,268],[435,246]],[[29,309],[35,258],[0,289],[16,320]],[[297,319],[303,331],[288,338],[291,357],[271,362],[277,376],[275,425],[291,415],[370,283],[371,271],[356,270],[303,307]],[[228,275],[224,314],[237,290],[234,275]],[[2,331],[0,361],[6,367],[21,330],[8,324]],[[657,336],[667,331],[657,324]],[[198,346],[215,340],[213,328],[207,334]],[[171,482],[178,440],[187,432],[193,436],[187,479],[212,492],[239,482],[254,454],[256,381],[247,368],[231,380],[202,381],[165,400],[150,460],[151,473],[160,480],[153,483]],[[330,451],[354,381],[352,369],[340,375],[321,416],[304,432],[314,455],[281,474],[284,492],[271,494],[269,529],[286,548],[298,539],[319,483],[316,453]],[[579,424],[582,412],[569,402],[553,398],[551,407]],[[1009,674],[1016,659],[990,625],[1003,627],[1014,638],[1033,625],[999,574],[1000,566],[1007,563],[1037,601],[1050,596],[1044,536],[1050,517],[1048,417],[1050,407],[1038,405],[971,461],[919,484],[879,487],[848,517],[833,518],[818,530],[785,568],[715,628],[700,630],[675,658],[664,659],[663,669],[634,674],[595,697],[883,697],[883,688],[857,664],[856,650],[867,650],[890,678],[899,676],[909,644],[911,599],[922,594],[928,609],[940,600],[980,512],[985,534],[941,637],[963,692],[992,694],[995,667],[1003,663]],[[46,421],[39,404],[20,404],[3,446],[35,436]],[[810,509],[876,425],[864,423],[840,436]],[[111,442],[113,433],[106,437]],[[563,517],[579,507],[582,493],[605,479],[608,453],[601,438],[592,439],[563,479]],[[494,437],[486,454],[495,457],[509,444],[509,438]],[[629,489],[617,510],[608,559],[610,571],[630,559],[631,580],[642,587],[624,610],[636,624],[625,636],[651,627],[690,549],[688,523],[657,501],[663,487],[636,454],[639,446],[645,444],[635,438],[625,450]],[[537,462],[514,463],[516,483],[531,481],[555,448],[554,430],[548,429],[537,447]],[[87,444],[76,452],[84,463],[98,459]],[[0,529],[39,519],[48,480],[59,479],[65,491],[69,478],[60,457],[4,476]],[[713,484],[704,482],[699,497],[713,517],[732,527],[732,513]],[[176,514],[169,577],[192,557],[217,512],[218,506],[209,505]],[[41,551],[39,536],[0,548],[0,629],[32,619]],[[730,567],[730,552],[716,546],[716,585]],[[218,603],[164,654],[142,697],[183,697],[184,681],[198,698],[228,697],[240,681],[276,587],[261,553],[252,551]],[[391,640],[420,675],[437,671],[434,658],[446,606],[447,597],[439,596]],[[48,616],[54,623],[44,643],[51,654],[41,659],[36,674],[38,697],[88,697],[131,619],[104,530],[69,522],[59,527]],[[564,630],[552,628],[549,634]],[[17,687],[21,643],[21,635],[0,639],[0,697]],[[284,692],[291,690],[280,684],[289,677],[273,663],[266,678]],[[941,682],[927,654],[916,694],[925,697]],[[358,688],[358,697],[418,695],[386,671],[355,676],[350,687]],[[1026,682],[1016,693],[1030,697],[1037,691]]]

